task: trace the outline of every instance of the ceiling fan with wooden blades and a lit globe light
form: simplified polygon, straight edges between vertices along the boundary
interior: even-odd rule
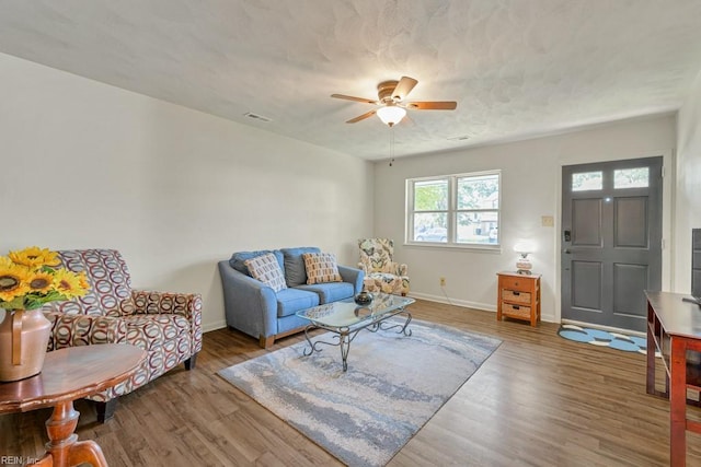
[[[418,83],[418,81],[409,77],[402,77],[399,81],[382,81],[377,85],[377,101],[344,94],[331,94],[331,97],[380,106],[379,108],[349,119],[346,124],[355,124],[377,114],[380,120],[390,127],[399,124],[402,118],[404,118],[407,108],[413,110],[455,110],[458,106],[458,103],[453,101],[404,102],[404,98],[406,98],[406,95],[414,89],[416,83]]]

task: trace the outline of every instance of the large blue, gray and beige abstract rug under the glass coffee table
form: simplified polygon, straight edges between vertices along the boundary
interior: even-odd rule
[[[337,347],[304,357],[304,341],[219,375],[341,462],[383,466],[501,345],[416,319],[410,329],[360,331],[346,373]]]

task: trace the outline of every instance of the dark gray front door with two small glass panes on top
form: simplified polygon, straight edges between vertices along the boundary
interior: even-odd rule
[[[662,157],[562,168],[562,318],[645,330],[662,287]]]

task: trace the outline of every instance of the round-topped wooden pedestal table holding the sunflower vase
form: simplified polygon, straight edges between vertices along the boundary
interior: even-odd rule
[[[0,413],[26,412],[54,407],[46,421],[49,442],[38,466],[106,466],[94,441],[78,441],[74,433],[80,413],[73,400],[99,393],[127,380],[146,359],[138,347],[104,343],[71,347],[46,354],[44,370],[36,376],[0,383]]]

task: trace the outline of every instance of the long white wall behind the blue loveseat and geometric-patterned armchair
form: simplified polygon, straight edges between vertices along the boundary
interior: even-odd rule
[[[108,247],[133,285],[199,292],[225,326],[217,261],[317,245],[357,264],[372,164],[0,55],[0,255]]]

